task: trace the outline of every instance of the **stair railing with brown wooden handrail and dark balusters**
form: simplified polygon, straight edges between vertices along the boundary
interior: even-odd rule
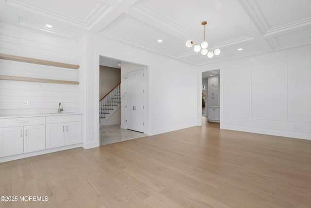
[[[109,110],[113,110],[113,106],[117,106],[117,102],[121,102],[121,82],[99,100],[100,118],[104,118]]]

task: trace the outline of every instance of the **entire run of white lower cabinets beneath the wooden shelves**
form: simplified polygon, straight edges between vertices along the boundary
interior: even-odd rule
[[[76,145],[81,146],[81,114],[0,118],[0,162]]]

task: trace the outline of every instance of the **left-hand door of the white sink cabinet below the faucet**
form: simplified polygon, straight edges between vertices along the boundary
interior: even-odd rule
[[[65,146],[65,124],[46,125],[46,149]]]

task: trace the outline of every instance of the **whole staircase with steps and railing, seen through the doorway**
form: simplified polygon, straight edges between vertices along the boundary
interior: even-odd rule
[[[100,125],[107,123],[108,119],[121,108],[121,82],[112,88],[99,101],[99,118]]]

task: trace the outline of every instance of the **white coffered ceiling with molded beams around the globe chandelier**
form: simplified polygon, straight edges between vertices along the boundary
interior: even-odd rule
[[[185,45],[203,41],[202,21],[217,57]],[[194,65],[311,44],[311,0],[0,0],[0,22],[74,40],[98,34]]]

